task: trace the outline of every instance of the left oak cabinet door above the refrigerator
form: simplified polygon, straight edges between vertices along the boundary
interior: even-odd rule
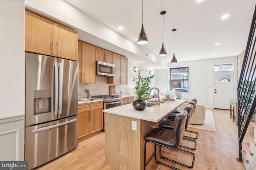
[[[54,56],[54,25],[25,11],[25,51]]]

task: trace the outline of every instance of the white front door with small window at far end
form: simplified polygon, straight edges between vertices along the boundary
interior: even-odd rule
[[[234,98],[232,71],[214,72],[214,108],[230,109],[230,99]]]

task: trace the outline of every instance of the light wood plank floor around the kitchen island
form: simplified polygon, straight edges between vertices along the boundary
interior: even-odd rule
[[[193,168],[184,168],[177,164],[164,162],[181,170],[245,170],[244,165],[236,161],[238,157],[238,129],[236,123],[229,116],[230,112],[214,109],[213,114],[216,133],[189,128],[189,130],[199,133],[196,140],[197,148],[192,151],[196,155]],[[185,135],[190,134],[186,133]],[[105,163],[104,139],[104,132],[101,132],[79,141],[76,149],[36,168],[36,170],[113,170]],[[192,143],[182,140],[182,145],[191,146]],[[182,152],[165,149],[163,155],[185,164],[191,164],[191,158],[184,156]],[[157,163],[154,163],[152,167],[146,167],[146,169],[170,170],[170,168]]]

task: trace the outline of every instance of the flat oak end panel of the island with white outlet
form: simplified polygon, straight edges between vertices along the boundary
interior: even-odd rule
[[[106,113],[105,116],[106,164],[116,170],[141,169],[140,119],[111,113]],[[132,130],[132,121],[137,122],[137,131]]]

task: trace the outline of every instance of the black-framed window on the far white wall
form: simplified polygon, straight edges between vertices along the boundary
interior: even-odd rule
[[[188,92],[188,67],[170,68],[170,91]]]

